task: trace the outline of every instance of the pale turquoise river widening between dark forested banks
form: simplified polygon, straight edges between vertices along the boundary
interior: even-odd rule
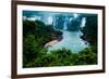
[[[80,37],[83,35],[78,31],[61,30],[63,39],[48,48],[48,52],[59,50],[62,48],[71,50],[73,53],[78,53],[84,48],[88,47],[88,42],[84,41]]]

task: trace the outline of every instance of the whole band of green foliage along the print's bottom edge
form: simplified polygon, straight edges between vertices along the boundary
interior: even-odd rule
[[[61,49],[36,57],[29,64],[29,67],[93,65],[97,64],[97,54],[92,52],[89,48],[80,53],[72,53],[70,50]]]

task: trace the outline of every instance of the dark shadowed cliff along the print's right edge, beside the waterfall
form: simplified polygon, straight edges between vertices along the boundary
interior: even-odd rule
[[[86,16],[86,24],[83,27],[82,39],[88,41],[90,44],[97,43],[97,15],[87,15]]]

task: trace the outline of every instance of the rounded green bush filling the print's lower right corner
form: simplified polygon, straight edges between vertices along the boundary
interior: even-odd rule
[[[76,63],[78,65],[81,65],[81,64],[85,64],[85,65],[97,64],[97,54],[95,52],[93,52],[90,48],[86,48],[80,52],[78,60]]]

